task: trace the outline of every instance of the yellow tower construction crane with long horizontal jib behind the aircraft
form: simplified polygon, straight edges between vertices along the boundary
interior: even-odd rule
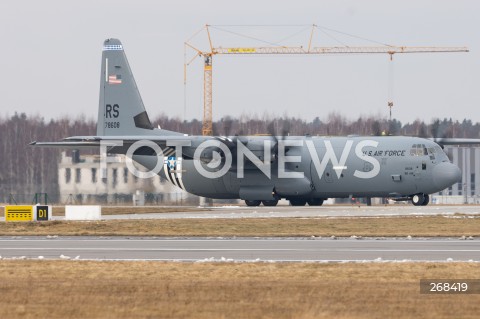
[[[212,44],[212,38],[209,30],[210,25],[200,30],[205,30],[208,36],[209,48],[206,51],[202,51],[192,44],[185,42],[185,46],[196,51],[196,55],[190,60],[185,61],[185,78],[186,67],[197,57],[203,57],[204,60],[204,107],[203,107],[203,135],[212,135],[212,62],[213,56],[218,54],[236,54],[236,55],[268,55],[268,54],[284,54],[284,55],[297,55],[297,54],[389,54],[390,59],[397,53],[435,53],[435,52],[468,52],[466,47],[409,47],[409,46],[333,46],[333,47],[315,47],[312,46],[312,40],[317,25],[312,25],[310,33],[310,40],[306,47],[303,46],[260,46],[260,47],[214,47]],[[199,32],[200,32],[199,31]],[[197,32],[197,34],[199,33]],[[393,107],[393,101],[388,101],[388,107]]]

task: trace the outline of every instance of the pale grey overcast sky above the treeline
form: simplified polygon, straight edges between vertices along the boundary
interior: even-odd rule
[[[186,94],[183,63],[184,42],[203,25],[222,26],[212,31],[214,46],[254,46],[262,43],[222,30],[306,45],[308,28],[224,25],[315,23],[381,43],[468,46],[470,53],[399,54],[393,73],[386,55],[216,56],[214,119],[242,113],[325,119],[335,111],[350,119],[387,117],[392,77],[393,116],[403,123],[433,117],[480,122],[479,12],[475,0],[4,0],[0,114],[94,118],[103,40],[115,37],[123,42],[150,117],[163,112],[201,119],[202,60],[188,67]],[[192,41],[207,45],[202,34]],[[333,32],[318,32],[314,42],[372,45]],[[188,51],[188,58],[193,54]]]

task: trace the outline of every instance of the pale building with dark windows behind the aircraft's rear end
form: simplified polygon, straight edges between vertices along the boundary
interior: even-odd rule
[[[191,199],[186,192],[160,176],[138,178],[127,168],[125,156],[109,156],[106,174],[100,169],[99,155],[69,157],[62,152],[58,166],[58,185],[62,202],[108,202],[174,204]],[[102,178],[106,176],[106,178]]]

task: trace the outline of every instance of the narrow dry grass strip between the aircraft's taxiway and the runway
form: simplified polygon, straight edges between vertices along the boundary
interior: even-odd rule
[[[478,216],[153,219],[0,223],[2,236],[461,237],[480,236]]]

